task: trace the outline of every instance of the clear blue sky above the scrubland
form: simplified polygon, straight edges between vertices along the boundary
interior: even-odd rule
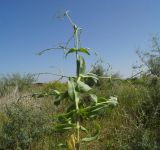
[[[0,75],[74,74],[74,57],[64,59],[59,50],[36,55],[71,36],[68,20],[56,17],[69,10],[83,29],[82,47],[96,50],[113,72],[129,77],[138,60],[136,49],[149,48],[151,36],[160,33],[159,8],[159,0],[0,0]],[[88,70],[97,59],[86,57]]]

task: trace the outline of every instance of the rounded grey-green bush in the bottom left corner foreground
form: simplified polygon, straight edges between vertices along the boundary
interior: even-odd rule
[[[39,109],[14,103],[6,107],[0,149],[31,149],[50,132],[49,118]]]

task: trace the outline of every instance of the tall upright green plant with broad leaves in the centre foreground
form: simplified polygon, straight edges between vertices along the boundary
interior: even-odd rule
[[[80,132],[88,133],[88,130],[82,125],[83,120],[89,118],[95,118],[99,112],[109,106],[117,105],[117,98],[110,97],[109,99],[103,97],[97,97],[93,94],[92,88],[85,83],[85,80],[91,78],[94,82],[98,81],[96,74],[86,72],[86,63],[84,57],[81,55],[90,55],[88,48],[80,47],[79,44],[79,28],[71,19],[68,11],[64,14],[68,18],[73,28],[73,40],[74,47],[69,48],[68,42],[66,46],[59,46],[57,49],[63,49],[65,56],[75,55],[76,57],[76,75],[68,78],[68,89],[65,92],[53,90],[50,93],[41,93],[38,97],[46,95],[54,95],[56,106],[60,105],[62,101],[67,102],[67,110],[62,114],[58,114],[54,117],[54,130],[57,132],[70,131],[69,139],[67,140],[67,146],[72,150],[80,150],[82,142],[89,142],[98,138],[99,125],[97,125],[96,133],[93,136],[82,137]],[[70,40],[69,40],[70,41]],[[39,54],[43,54],[45,51],[53,50],[55,48],[46,49]],[[66,77],[66,76],[62,76]],[[88,104],[84,97],[88,96],[90,103]]]

